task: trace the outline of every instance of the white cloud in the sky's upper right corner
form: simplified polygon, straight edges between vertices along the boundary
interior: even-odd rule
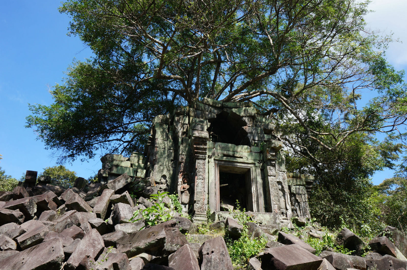
[[[407,68],[407,1],[373,0],[369,9],[374,12],[365,17],[368,28],[380,30],[382,35],[394,33],[394,39],[403,41],[389,44],[387,60],[397,69]]]

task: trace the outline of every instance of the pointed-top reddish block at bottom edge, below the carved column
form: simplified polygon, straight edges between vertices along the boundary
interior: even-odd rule
[[[197,257],[188,244],[168,257],[168,266],[177,270],[200,270]]]

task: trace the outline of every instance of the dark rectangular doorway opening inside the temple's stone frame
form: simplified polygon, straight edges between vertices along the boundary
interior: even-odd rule
[[[231,172],[219,172],[219,200],[221,211],[239,209],[249,211],[247,207],[246,175]],[[236,200],[239,205],[236,204]]]

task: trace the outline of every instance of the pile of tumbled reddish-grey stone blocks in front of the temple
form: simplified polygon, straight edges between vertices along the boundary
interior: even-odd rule
[[[197,226],[175,211],[171,220],[155,226],[146,227],[141,215],[137,222],[130,221],[135,211],[153,205],[148,200],[152,185],[123,174],[105,185],[78,179],[72,188],[42,184],[0,192],[0,269],[234,269],[223,237],[197,234]],[[129,187],[137,187],[144,197],[132,198]],[[164,205],[170,207],[171,202],[164,200]],[[253,222],[246,226],[252,238],[265,235],[269,239],[264,252],[249,260],[250,269],[407,267],[403,255],[407,243],[395,228],[387,233],[397,236],[397,246],[386,236],[376,237],[368,243],[371,252],[360,257],[365,243],[346,228],[337,242],[354,250],[353,255],[325,250],[316,256],[316,250],[303,240],[274,226]],[[230,217],[211,228],[225,229],[230,239],[239,239],[243,232],[243,226]],[[322,237],[322,231],[313,227],[307,233]]]

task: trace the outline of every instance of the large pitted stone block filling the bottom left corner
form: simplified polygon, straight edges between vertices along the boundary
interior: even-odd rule
[[[64,259],[61,240],[53,240],[27,248],[0,261],[2,269],[60,269]]]

